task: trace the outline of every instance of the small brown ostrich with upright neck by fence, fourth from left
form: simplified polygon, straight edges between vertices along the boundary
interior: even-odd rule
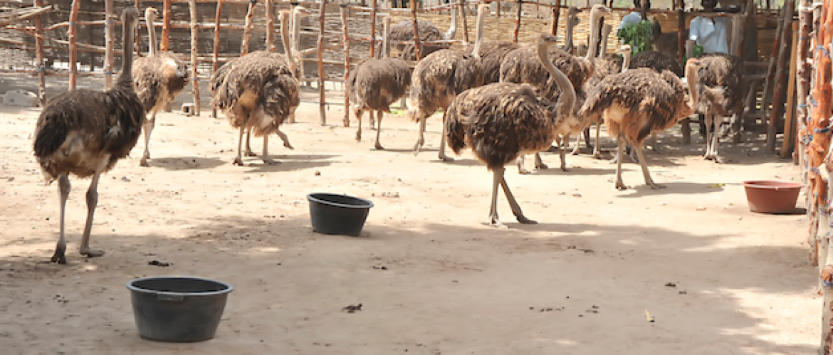
[[[379,143],[379,136],[382,132],[382,117],[385,112],[391,112],[391,103],[396,102],[405,95],[405,90],[411,85],[411,67],[401,58],[392,58],[388,52],[388,34],[391,18],[384,19],[384,43],[382,51],[377,52],[376,58],[367,58],[356,65],[356,69],[350,72],[347,78],[347,95],[350,95],[354,106],[356,118],[359,120],[359,128],[356,132],[356,140],[362,140],[362,114],[376,110],[378,116],[378,127],[376,131],[376,148],[382,148]],[[386,56],[382,57],[381,53]],[[372,125],[372,123],[371,123]]]

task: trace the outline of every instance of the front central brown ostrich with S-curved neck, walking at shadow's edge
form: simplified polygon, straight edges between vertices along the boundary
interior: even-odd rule
[[[538,57],[560,89],[557,102],[538,95],[528,84],[497,82],[462,92],[448,107],[446,134],[451,150],[460,153],[463,148],[471,147],[476,158],[494,174],[489,212],[492,226],[501,226],[497,217],[498,185],[503,188],[518,222],[536,223],[521,212],[503,173],[504,166],[522,154],[549,148],[556,138],[558,121],[573,111],[575,89],[549,58],[548,47],[555,43],[556,37],[542,35],[537,47]]]

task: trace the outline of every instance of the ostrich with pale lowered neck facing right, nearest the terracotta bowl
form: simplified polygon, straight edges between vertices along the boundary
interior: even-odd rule
[[[686,81],[689,87],[697,82],[697,69],[702,62],[689,59],[686,62]],[[599,85],[587,93],[587,100],[578,114],[598,117],[604,115],[605,125],[618,144],[617,156],[621,157],[625,140],[636,149],[642,176],[651,188],[664,188],[654,183],[648,173],[642,143],[651,133],[671,128],[676,122],[691,115],[698,92],[691,90],[686,101],[685,87],[673,72],[656,72],[647,68],[630,69],[605,77]],[[616,161],[616,188],[624,190],[621,162]]]

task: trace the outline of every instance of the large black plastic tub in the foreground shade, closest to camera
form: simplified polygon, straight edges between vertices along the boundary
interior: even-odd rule
[[[207,278],[137,278],[127,283],[142,338],[200,342],[214,338],[232,285]]]

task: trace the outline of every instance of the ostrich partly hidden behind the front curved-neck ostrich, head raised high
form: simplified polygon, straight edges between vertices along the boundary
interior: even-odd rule
[[[590,12],[590,42],[594,43],[599,37],[599,23],[602,21],[602,16],[610,13],[610,9],[601,4],[593,5]],[[553,65],[555,65],[561,72],[565,73],[570,79],[573,87],[579,88],[576,90],[576,96],[579,101],[582,101],[584,92],[581,87],[593,74],[596,61],[596,46],[590,46],[586,57],[583,59],[572,56],[571,54],[562,51],[556,47],[549,48],[549,55]],[[501,82],[516,82],[531,84],[544,97],[556,97],[560,90],[556,85],[554,78],[548,75],[545,67],[535,57],[536,49],[531,46],[521,47],[506,55],[506,58],[501,63]],[[574,112],[575,113],[575,112]],[[561,170],[566,171],[566,142],[569,141],[571,133],[581,132],[586,127],[586,121],[583,118],[575,115],[570,115],[559,121],[556,127],[558,134],[561,136],[561,141],[558,145],[560,148]],[[541,161],[541,155],[536,153],[535,166],[539,169],[546,169],[546,165]],[[523,166],[523,158],[518,159],[519,173],[529,173]]]

